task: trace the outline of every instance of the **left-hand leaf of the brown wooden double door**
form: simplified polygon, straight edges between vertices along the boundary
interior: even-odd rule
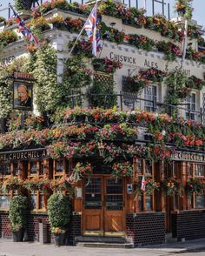
[[[103,235],[103,179],[84,180],[83,235]]]

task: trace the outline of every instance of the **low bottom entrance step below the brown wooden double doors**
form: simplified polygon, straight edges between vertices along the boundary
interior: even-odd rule
[[[97,247],[97,248],[121,248],[121,249],[130,249],[134,248],[134,244],[112,244],[112,243],[76,243],[76,246],[81,247]]]

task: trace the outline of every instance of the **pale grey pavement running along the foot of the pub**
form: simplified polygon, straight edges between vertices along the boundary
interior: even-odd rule
[[[36,242],[15,243],[12,240],[0,239],[0,256],[166,256],[189,255],[188,252],[197,252],[205,255],[205,239],[195,239],[173,244],[144,246],[133,249],[119,248],[88,248],[80,246],[60,246],[40,244]]]

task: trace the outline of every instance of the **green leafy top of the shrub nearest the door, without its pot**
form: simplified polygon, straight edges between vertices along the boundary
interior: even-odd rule
[[[66,228],[69,225],[71,204],[68,195],[56,193],[48,201],[48,215],[52,229]]]

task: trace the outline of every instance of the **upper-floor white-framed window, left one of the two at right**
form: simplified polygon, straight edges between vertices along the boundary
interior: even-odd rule
[[[148,101],[144,101],[144,109],[146,111],[155,111],[153,109],[153,100],[157,98],[157,87],[155,85],[148,85],[144,88],[144,98]]]

